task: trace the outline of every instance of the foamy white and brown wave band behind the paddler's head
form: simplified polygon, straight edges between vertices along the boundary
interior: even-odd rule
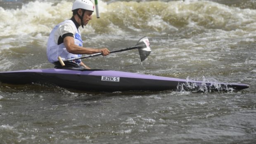
[[[82,31],[88,33],[168,33],[181,28],[256,31],[256,10],[205,0],[116,1],[100,4],[100,19]],[[0,7],[0,36],[42,33],[71,18],[72,2],[33,1],[18,9]]]

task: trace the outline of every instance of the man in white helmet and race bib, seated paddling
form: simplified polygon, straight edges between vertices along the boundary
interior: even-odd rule
[[[103,56],[109,54],[107,48],[89,48],[83,47],[81,33],[79,27],[86,26],[92,19],[94,5],[90,0],[76,0],[72,7],[73,16],[69,20],[65,20],[53,28],[47,42],[47,57],[48,60],[55,64],[55,68],[67,69],[83,69],[87,68],[81,59],[76,61],[65,62],[64,67],[58,61],[58,57],[62,59],[70,59],[81,57],[82,54],[95,54],[101,52]]]

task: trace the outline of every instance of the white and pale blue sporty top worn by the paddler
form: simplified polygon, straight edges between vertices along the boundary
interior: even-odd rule
[[[47,42],[47,57],[51,63],[58,61],[58,57],[62,59],[70,59],[74,57],[81,57],[81,54],[71,54],[66,50],[64,43],[58,45],[59,36],[64,35],[65,33],[73,33],[75,40],[75,45],[83,46],[83,41],[81,39],[80,31],[76,28],[76,25],[73,21],[66,20],[59,23],[53,28],[50,33],[48,42]],[[81,63],[81,59],[75,60],[77,64]]]

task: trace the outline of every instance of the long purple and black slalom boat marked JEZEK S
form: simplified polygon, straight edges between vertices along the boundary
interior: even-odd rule
[[[210,83],[123,71],[56,68],[0,72],[0,81],[14,85],[51,83],[59,87],[101,92],[130,90],[230,91],[249,87],[247,84]]]

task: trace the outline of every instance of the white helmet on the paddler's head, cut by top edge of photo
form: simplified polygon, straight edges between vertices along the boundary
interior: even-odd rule
[[[94,11],[94,5],[90,0],[76,0],[73,3],[72,11],[75,9],[85,9],[85,10],[90,10]]]

